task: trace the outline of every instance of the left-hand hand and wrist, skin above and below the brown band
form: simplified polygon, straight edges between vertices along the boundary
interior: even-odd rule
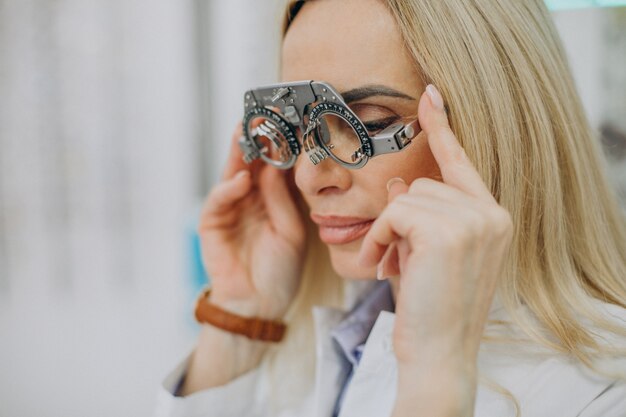
[[[241,134],[239,126],[222,179],[202,209],[202,261],[211,278],[211,303],[234,314],[277,320],[300,284],[305,225],[290,172],[259,160],[245,164]],[[179,394],[232,381],[258,366],[268,345],[203,326]]]

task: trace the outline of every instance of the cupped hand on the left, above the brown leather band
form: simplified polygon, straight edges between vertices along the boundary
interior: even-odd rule
[[[240,315],[278,319],[300,283],[305,225],[290,172],[261,160],[246,164],[241,135],[239,124],[222,179],[202,209],[202,260],[212,303]]]

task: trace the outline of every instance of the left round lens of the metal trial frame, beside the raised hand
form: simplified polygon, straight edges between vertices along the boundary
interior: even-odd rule
[[[291,160],[289,142],[276,123],[259,116],[252,118],[248,126],[249,137],[259,149],[261,158],[276,166]]]

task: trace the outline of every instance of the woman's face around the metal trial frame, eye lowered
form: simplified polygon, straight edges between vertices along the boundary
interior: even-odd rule
[[[417,118],[425,85],[382,1],[309,1],[282,47],[282,81],[330,83],[366,124]],[[330,158],[313,165],[303,153],[293,170],[333,268],[351,279],[376,276],[375,269],[357,264],[357,255],[371,221],[387,205],[387,181],[440,178],[423,133],[401,152],[376,156],[361,169],[344,168]]]

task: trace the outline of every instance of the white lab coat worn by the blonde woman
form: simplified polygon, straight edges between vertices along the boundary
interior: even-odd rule
[[[616,322],[626,327],[626,310],[598,302]],[[330,331],[346,315],[331,308],[313,311],[316,329],[317,369],[315,389],[297,409],[278,417],[331,417],[337,395],[349,371],[345,359],[332,344]],[[494,302],[490,318],[506,319]],[[381,312],[372,329],[361,361],[347,388],[339,417],[389,417],[396,396],[397,366],[393,354],[394,314]],[[623,339],[611,339],[626,347]],[[274,417],[268,411],[267,373],[256,369],[216,388],[187,397],[172,391],[184,375],[189,357],[165,379],[154,417]],[[626,373],[626,358],[607,364]],[[481,375],[475,417],[514,416],[513,403],[483,377],[508,389],[519,401],[522,417],[626,417],[626,384],[601,377],[580,363],[543,349],[483,343],[478,357]]]

